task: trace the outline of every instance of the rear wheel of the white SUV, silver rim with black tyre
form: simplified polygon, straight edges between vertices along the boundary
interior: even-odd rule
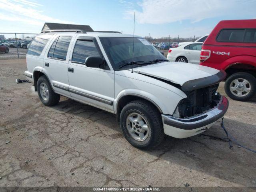
[[[41,102],[46,106],[56,105],[60,100],[60,95],[54,93],[46,76],[40,76],[37,81],[37,92]]]

